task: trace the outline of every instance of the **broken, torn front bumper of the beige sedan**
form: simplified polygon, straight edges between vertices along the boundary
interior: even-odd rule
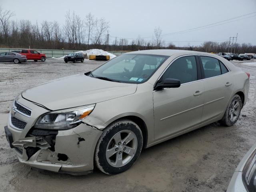
[[[30,109],[33,106],[20,99]],[[39,110],[40,109],[40,110]],[[51,130],[35,128],[38,114],[31,113],[30,117],[22,116],[11,110],[8,127],[5,127],[6,138],[11,148],[16,152],[20,162],[36,168],[68,174],[87,174],[93,170],[94,149],[101,130],[89,126],[82,121],[74,128],[66,130]],[[47,112],[46,112],[47,113]],[[35,115],[35,116],[33,116]],[[14,118],[26,122],[23,130],[20,130],[20,122],[12,121]]]

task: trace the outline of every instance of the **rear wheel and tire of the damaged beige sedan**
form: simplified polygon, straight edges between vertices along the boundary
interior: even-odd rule
[[[228,104],[225,114],[222,117],[222,120],[220,120],[220,123],[225,126],[234,125],[240,116],[241,110],[242,100],[239,95],[235,94],[231,102]]]

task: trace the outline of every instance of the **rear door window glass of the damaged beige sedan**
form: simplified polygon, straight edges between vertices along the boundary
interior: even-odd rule
[[[204,77],[214,77],[221,75],[219,60],[213,57],[200,56],[204,67]]]

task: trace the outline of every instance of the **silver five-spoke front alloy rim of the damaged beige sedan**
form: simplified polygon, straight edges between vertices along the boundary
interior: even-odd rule
[[[113,167],[121,167],[130,162],[138,147],[136,135],[130,130],[117,132],[108,142],[106,159]]]

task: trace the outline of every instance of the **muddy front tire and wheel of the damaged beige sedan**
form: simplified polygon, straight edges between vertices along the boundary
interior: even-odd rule
[[[142,132],[136,123],[128,119],[116,121],[104,129],[98,140],[94,154],[95,164],[105,174],[124,172],[136,162],[142,145]]]

